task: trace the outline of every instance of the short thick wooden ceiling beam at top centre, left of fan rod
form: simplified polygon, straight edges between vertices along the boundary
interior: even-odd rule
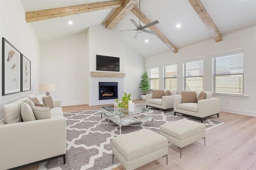
[[[132,8],[139,2],[139,0],[126,0],[123,6],[120,6],[110,16],[106,22],[106,28],[112,30],[124,16],[132,10]]]

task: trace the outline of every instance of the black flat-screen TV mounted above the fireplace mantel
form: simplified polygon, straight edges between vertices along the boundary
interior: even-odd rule
[[[119,58],[104,55],[96,55],[96,70],[119,71]]]

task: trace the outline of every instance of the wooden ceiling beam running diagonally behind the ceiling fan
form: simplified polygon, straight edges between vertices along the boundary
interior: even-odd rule
[[[145,24],[149,24],[151,23],[151,21],[142,13],[140,12],[140,10],[134,6],[134,8],[132,8],[132,13],[137,16],[138,18],[140,17],[140,20]],[[162,32],[160,32],[160,30],[158,30],[158,28],[156,28],[156,26],[151,26],[149,27],[149,29],[153,32],[157,32],[156,36],[165,43],[165,45],[167,45],[168,48],[170,48],[174,53],[178,53],[178,49],[173,45],[173,43],[170,42],[170,40],[168,40],[168,38],[166,38],[166,36],[164,36],[164,34]]]

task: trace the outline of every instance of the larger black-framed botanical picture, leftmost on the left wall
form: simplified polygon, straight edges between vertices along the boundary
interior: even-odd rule
[[[2,96],[21,92],[21,53],[2,38]]]

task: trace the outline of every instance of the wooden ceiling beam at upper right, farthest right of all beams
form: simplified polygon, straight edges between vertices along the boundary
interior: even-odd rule
[[[222,35],[218,30],[217,26],[214,24],[212,18],[204,8],[201,0],[188,0],[191,6],[194,8],[199,18],[202,20],[212,37],[216,42],[222,41]]]

